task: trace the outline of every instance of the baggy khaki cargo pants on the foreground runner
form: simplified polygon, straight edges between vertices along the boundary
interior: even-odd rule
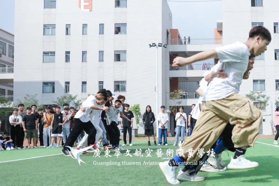
[[[181,146],[185,160],[199,160],[199,148],[208,151],[218,139],[227,123],[235,125],[232,141],[235,148],[253,147],[259,136],[262,114],[243,96],[232,94],[221,100],[203,102],[201,113],[192,135]],[[193,148],[193,157],[188,157],[188,149]]]

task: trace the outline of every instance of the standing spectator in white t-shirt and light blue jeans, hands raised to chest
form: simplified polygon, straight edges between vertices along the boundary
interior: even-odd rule
[[[178,145],[179,135],[181,134],[180,141],[184,141],[185,137],[185,122],[187,120],[186,113],[183,112],[184,107],[179,106],[179,112],[175,115],[175,121],[176,121],[176,134],[175,134],[175,140],[174,145]]]

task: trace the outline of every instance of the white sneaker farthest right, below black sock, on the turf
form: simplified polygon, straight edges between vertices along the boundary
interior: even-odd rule
[[[234,159],[231,157],[230,163],[228,164],[228,168],[230,169],[246,169],[246,168],[254,168],[259,166],[259,163],[255,161],[247,160],[244,157],[244,154]]]

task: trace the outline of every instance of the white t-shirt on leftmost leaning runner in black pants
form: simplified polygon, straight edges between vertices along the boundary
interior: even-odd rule
[[[93,105],[95,105],[97,99],[95,98],[95,96],[90,95],[83,103],[82,103],[82,107],[86,108],[85,112],[82,112],[81,110],[79,110],[76,115],[74,116],[74,118],[79,118],[82,122],[88,122],[90,120],[89,118],[89,113],[93,110],[92,107]]]

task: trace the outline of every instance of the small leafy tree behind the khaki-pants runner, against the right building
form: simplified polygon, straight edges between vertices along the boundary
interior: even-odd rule
[[[263,91],[249,91],[248,94],[245,95],[260,111],[266,111],[266,107],[269,105],[268,100],[270,96],[266,96],[263,94]]]

